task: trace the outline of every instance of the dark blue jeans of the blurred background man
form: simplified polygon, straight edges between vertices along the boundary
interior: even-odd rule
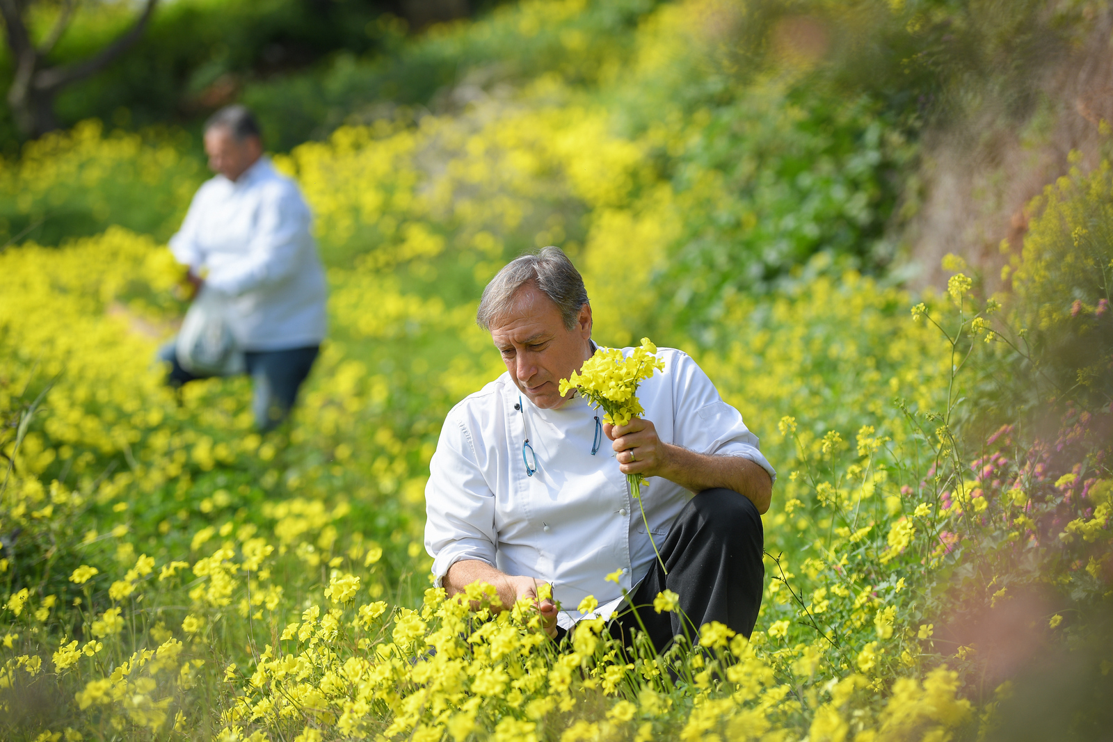
[[[181,367],[175,353],[176,340],[177,338],[169,340],[158,349],[158,360],[170,364],[166,383],[179,388],[194,379],[208,378]],[[259,431],[269,431],[289,415],[297,399],[297,390],[309,375],[319,349],[321,346],[311,345],[288,350],[252,350],[244,354],[247,375],[252,377],[254,387],[252,412],[255,413],[255,424]]]

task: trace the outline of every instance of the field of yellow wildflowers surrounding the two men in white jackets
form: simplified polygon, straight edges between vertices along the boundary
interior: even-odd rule
[[[662,6],[632,75],[692,24]],[[1089,646],[1113,583],[1109,168],[1032,205],[1007,295],[954,257],[946,293],[912,296],[821,253],[691,337],[670,249],[717,181],[681,192],[648,162],[707,121],[613,119],[541,76],[277,156],[316,215],[332,326],[266,436],[246,380],[177,397],[152,364],[184,308],[160,239],[203,177],[188,140],[88,122],[2,164],[29,218],[86,199],[134,227],[0,253],[4,739],[997,739],[1023,664],[1005,647]],[[631,656],[588,621],[556,646],[528,605],[430,587],[440,425],[501,373],[479,293],[545,244],[581,267],[597,339],[691,350],[778,467],[748,641],[712,624]],[[1109,645],[1090,654],[1109,675]]]

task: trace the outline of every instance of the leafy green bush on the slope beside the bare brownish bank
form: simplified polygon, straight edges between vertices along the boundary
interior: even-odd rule
[[[870,271],[893,260],[887,227],[916,149],[871,109],[770,83],[690,119],[668,165],[687,214],[659,278],[672,321],[713,344],[729,297],[816,253]]]

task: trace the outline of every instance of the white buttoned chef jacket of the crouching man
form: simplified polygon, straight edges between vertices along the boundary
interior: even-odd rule
[[[672,348],[657,355],[664,370],[642,382],[638,396],[660,439],[700,454],[745,456],[775,477],[757,436],[696,362]],[[514,408],[519,402],[522,410]],[[597,414],[601,421],[602,412],[579,395],[559,409],[541,409],[520,395],[509,373],[452,408],[425,487],[425,548],[437,585],[453,563],[480,560],[551,583],[565,629],[583,617],[575,606],[588,595],[601,604],[594,614],[605,617],[618,607],[622,588],[632,591],[656,556],[611,441],[603,436],[591,453]],[[525,438],[536,453],[533,476],[522,459]],[[693,494],[660,477],[641,493],[660,547]],[[617,570],[619,584],[607,582]]]

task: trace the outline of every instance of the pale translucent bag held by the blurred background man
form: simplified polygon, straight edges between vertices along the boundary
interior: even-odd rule
[[[175,352],[181,367],[197,376],[235,376],[246,370],[228,323],[228,304],[204,286],[181,321]]]

